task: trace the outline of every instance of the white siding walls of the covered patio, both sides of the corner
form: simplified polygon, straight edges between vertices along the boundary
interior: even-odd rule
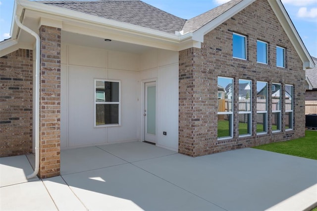
[[[154,79],[157,145],[178,150],[178,52],[139,55],[68,44],[61,51],[61,148],[142,140],[142,81]],[[94,127],[94,79],[121,81],[120,127]]]

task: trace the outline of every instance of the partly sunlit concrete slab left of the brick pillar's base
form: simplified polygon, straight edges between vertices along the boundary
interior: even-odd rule
[[[25,155],[0,158],[0,187],[39,179],[27,179],[31,173],[33,169]]]

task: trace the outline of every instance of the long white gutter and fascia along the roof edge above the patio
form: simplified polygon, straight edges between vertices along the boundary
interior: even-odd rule
[[[165,32],[160,32],[158,30],[149,29],[142,26],[136,26],[134,24],[119,22],[115,20],[110,20],[95,15],[83,14],[82,12],[73,11],[66,8],[52,7],[43,3],[29,0],[17,0],[17,3],[20,4],[23,8],[35,10],[41,13],[52,14],[57,19],[69,19],[82,21],[83,23],[95,23],[102,27],[118,30],[124,33],[134,33],[143,37],[154,38],[158,40],[168,41],[179,43],[180,36],[172,35]]]

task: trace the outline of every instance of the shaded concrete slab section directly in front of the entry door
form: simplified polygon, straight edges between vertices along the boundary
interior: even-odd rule
[[[177,154],[177,152],[140,141],[108,144],[98,147],[127,162],[142,161]]]

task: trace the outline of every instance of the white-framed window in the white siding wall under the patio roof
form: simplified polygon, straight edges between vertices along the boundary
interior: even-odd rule
[[[120,82],[95,80],[95,126],[120,123]]]

